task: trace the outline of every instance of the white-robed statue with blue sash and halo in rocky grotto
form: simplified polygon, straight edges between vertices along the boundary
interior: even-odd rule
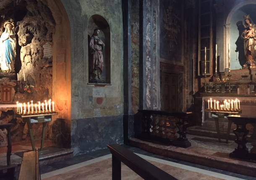
[[[5,30],[0,37],[0,68],[2,72],[13,73],[16,57],[16,38],[13,31],[13,20],[6,21],[3,27]]]

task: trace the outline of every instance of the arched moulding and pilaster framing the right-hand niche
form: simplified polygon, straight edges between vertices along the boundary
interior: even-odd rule
[[[230,10],[230,13],[227,15],[226,22],[225,22],[225,33],[224,33],[224,68],[228,68],[228,46],[230,45],[231,41],[231,21],[232,17],[234,14],[241,8],[245,7],[246,5],[255,5],[256,6],[256,1],[255,0],[247,0],[247,1],[242,1],[235,5],[232,10]],[[244,22],[243,22],[244,23]],[[254,22],[255,23],[255,22]]]

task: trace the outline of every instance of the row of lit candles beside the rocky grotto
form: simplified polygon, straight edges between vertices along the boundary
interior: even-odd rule
[[[33,101],[27,103],[19,103],[17,101],[16,104],[18,114],[45,114],[55,112],[54,101],[51,99],[48,101],[45,100],[42,103],[38,101],[35,104],[33,104]]]

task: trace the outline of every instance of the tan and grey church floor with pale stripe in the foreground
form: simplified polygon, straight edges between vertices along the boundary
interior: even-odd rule
[[[256,179],[255,177],[239,175],[232,172],[217,170],[211,167],[155,155],[136,147],[124,146],[180,180]],[[47,166],[41,166],[40,171],[42,179],[44,180],[111,180],[111,162],[111,154],[108,149],[105,149],[84,155],[78,155]],[[122,165],[122,179],[140,180],[141,177],[136,175],[125,165]]]

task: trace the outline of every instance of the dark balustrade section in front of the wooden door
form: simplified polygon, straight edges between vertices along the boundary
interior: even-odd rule
[[[135,137],[178,147],[190,147],[191,143],[186,137],[188,116],[190,114],[192,113],[140,109],[134,120]],[[178,132],[176,132],[177,127]]]

